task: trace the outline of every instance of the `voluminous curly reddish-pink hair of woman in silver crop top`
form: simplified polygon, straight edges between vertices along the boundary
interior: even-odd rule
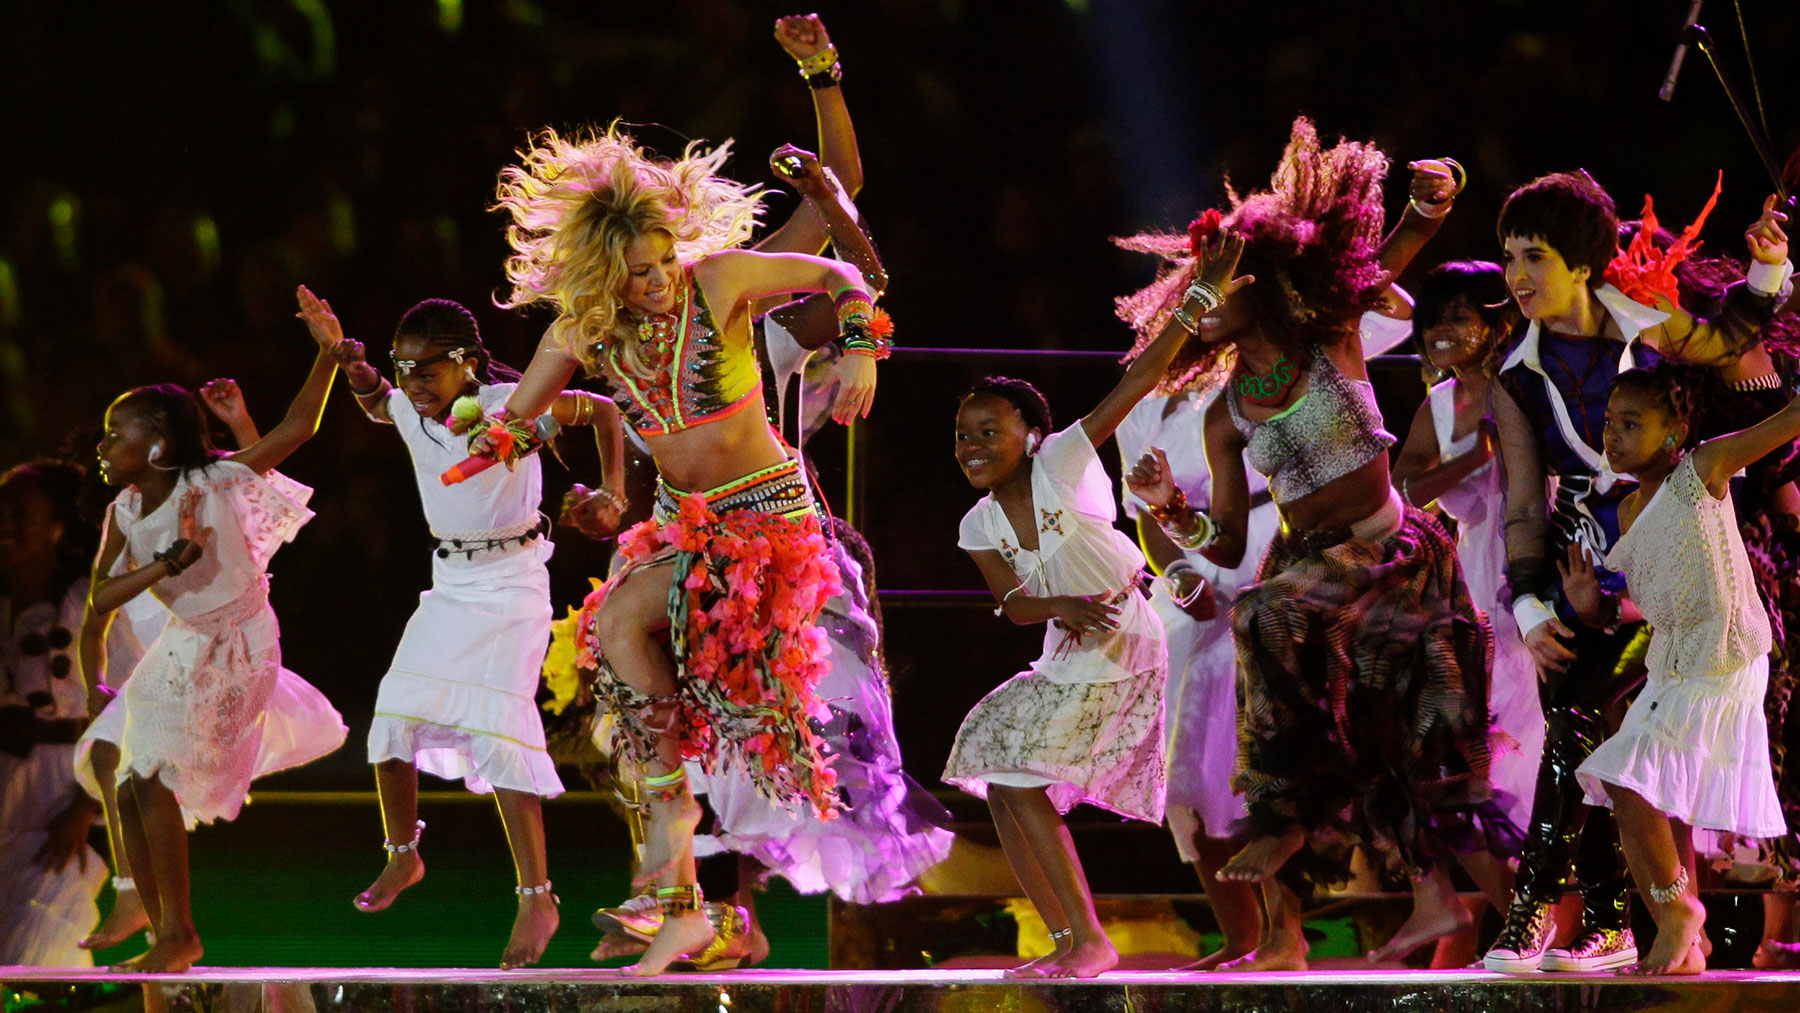
[[[1231,211],[1220,227],[1244,236],[1238,273],[1256,275],[1256,284],[1231,299],[1274,347],[1305,354],[1309,345],[1354,327],[1381,300],[1390,281],[1379,263],[1386,175],[1381,148],[1339,139],[1327,149],[1312,121],[1296,117],[1269,189],[1238,196],[1226,180]],[[1197,263],[1186,234],[1143,232],[1112,241],[1163,257],[1156,281],[1116,300],[1120,318],[1138,333],[1125,356],[1130,362],[1181,306]],[[1233,347],[1188,342],[1157,389],[1210,387],[1229,376],[1235,362]]]

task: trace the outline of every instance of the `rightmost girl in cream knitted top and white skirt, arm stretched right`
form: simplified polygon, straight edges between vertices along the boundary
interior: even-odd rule
[[[1762,695],[1769,617],[1757,597],[1732,507],[1732,473],[1800,435],[1800,401],[1683,453],[1688,407],[1672,374],[1625,371],[1606,407],[1606,459],[1638,488],[1618,507],[1606,567],[1629,601],[1606,594],[1595,561],[1559,563],[1570,605],[1589,626],[1651,623],[1649,678],[1613,738],[1577,768],[1589,804],[1611,806],[1631,873],[1651,901],[1656,943],[1620,973],[1706,970],[1676,835],[1692,828],[1768,838],[1786,833],[1769,774]]]

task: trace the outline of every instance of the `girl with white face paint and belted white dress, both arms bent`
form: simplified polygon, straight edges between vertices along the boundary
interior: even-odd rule
[[[356,910],[385,910],[425,876],[418,851],[425,828],[418,819],[419,770],[463,779],[472,792],[493,792],[518,874],[518,914],[500,966],[533,964],[560,921],[549,892],[542,799],[563,790],[544,749],[536,705],[551,637],[544,563],[554,549],[549,520],[538,513],[544,471],[538,455],[529,455],[455,484],[443,479],[470,457],[468,437],[461,435],[468,430],[446,425],[455,421],[457,399],[472,396],[481,416],[493,419],[517,383],[493,381],[493,371],[506,367],[491,360],[475,317],[457,302],[428,299],[400,318],[394,387],[364,360],[360,342],[342,336],[331,306],[301,291],[308,326],[338,349],[358,405],[407,443],[425,520],[437,540],[432,588],[419,596],[374,700],[369,763],[382,799],[387,865],[356,894]],[[625,475],[623,430],[612,401],[563,392],[551,414],[560,425],[594,425],[608,437],[601,441],[601,464],[616,525]]]

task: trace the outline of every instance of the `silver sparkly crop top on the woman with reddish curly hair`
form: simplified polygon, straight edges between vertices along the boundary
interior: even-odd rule
[[[1375,385],[1345,376],[1318,347],[1312,381],[1285,412],[1253,423],[1238,412],[1235,389],[1226,390],[1226,407],[1247,441],[1249,466],[1269,479],[1276,502],[1312,495],[1397,443],[1381,428]]]

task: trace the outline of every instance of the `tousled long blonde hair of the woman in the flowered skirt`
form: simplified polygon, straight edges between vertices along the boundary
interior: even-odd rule
[[[689,264],[742,247],[763,211],[763,191],[720,176],[731,142],[680,158],[646,153],[614,121],[605,131],[563,137],[551,128],[518,149],[518,164],[500,169],[493,211],[506,211],[504,308],[551,302],[551,336],[598,376],[614,369],[648,378],[637,326],[623,304],[630,270],[625,248],[648,232],[668,232],[675,257]],[[605,353],[601,349],[607,349]]]

